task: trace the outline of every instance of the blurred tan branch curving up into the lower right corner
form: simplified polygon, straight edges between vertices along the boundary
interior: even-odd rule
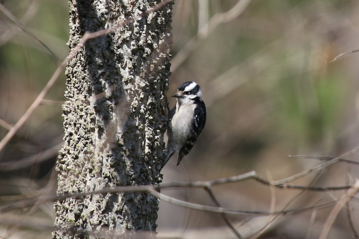
[[[353,187],[351,187],[343,196],[341,196],[340,200],[335,204],[334,208],[330,212],[328,219],[326,220],[323,230],[319,236],[319,239],[326,239],[329,235],[329,231],[332,228],[332,225],[338,216],[341,209],[348,203],[348,201],[354,197],[356,193],[359,191],[359,180],[356,180]]]

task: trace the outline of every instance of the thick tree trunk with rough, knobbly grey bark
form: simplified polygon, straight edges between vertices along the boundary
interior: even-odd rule
[[[86,32],[109,28],[155,0],[70,0],[72,49]],[[89,40],[67,65],[65,143],[56,169],[59,195],[125,185],[157,185],[170,75],[172,4]],[[107,193],[55,202],[53,238],[155,231],[158,199]],[[95,233],[95,234],[94,234]],[[104,236],[105,235],[105,236]]]

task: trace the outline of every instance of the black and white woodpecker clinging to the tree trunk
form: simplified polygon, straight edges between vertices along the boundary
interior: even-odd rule
[[[168,112],[170,121],[167,129],[167,156],[161,169],[177,151],[178,166],[183,156],[190,152],[206,124],[206,105],[202,100],[200,86],[196,82],[183,83],[172,97],[175,97],[177,102]]]

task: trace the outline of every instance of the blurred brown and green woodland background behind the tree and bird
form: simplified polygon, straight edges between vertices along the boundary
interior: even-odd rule
[[[67,1],[2,2],[59,61],[65,59],[69,52]],[[175,154],[164,167],[163,182],[215,180],[252,170],[269,181],[281,180],[323,163],[288,155],[336,157],[358,147],[359,53],[328,63],[340,53],[359,48],[358,10],[355,0],[176,0],[168,96],[181,83],[196,81],[208,116],[201,137],[180,166],[175,166]],[[1,138],[52,76],[56,69],[53,58],[0,13]],[[56,188],[53,165],[62,143],[65,80],[62,74],[46,100],[0,152],[2,204]],[[175,104],[171,97],[169,104],[171,108]],[[348,159],[358,161],[357,155]],[[358,177],[358,169],[358,165],[339,162],[291,183],[345,185]],[[300,209],[338,200],[344,192],[308,191],[297,196],[301,191],[271,188],[253,180],[213,190],[223,207],[255,211]],[[215,206],[201,189],[162,192]],[[343,210],[329,238],[352,236],[350,222],[359,231],[358,200],[354,197],[347,208],[350,220]],[[331,210],[332,206],[281,215],[260,238],[318,238]],[[25,221],[41,219],[51,226],[54,220],[51,203],[22,212]],[[229,218],[239,229],[252,223],[260,230],[268,221],[253,215]],[[256,221],[260,218],[265,222]],[[0,216],[0,238],[51,238],[49,228],[1,222]],[[236,238],[218,214],[160,202],[159,236],[192,235],[194,231],[204,235],[209,228],[220,229],[217,238]]]

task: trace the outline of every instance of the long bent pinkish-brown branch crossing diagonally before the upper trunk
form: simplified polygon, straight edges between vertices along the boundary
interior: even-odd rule
[[[108,29],[103,29],[103,30],[99,30],[98,32],[93,32],[93,33],[89,33],[89,32],[85,32],[85,34],[83,35],[83,37],[81,38],[80,42],[76,45],[75,48],[73,48],[73,50],[71,51],[71,53],[69,54],[69,56],[61,62],[61,64],[57,67],[55,73],[53,73],[52,77],[50,78],[50,80],[47,82],[46,86],[44,87],[44,89],[40,92],[40,94],[36,97],[35,101],[32,103],[32,105],[28,108],[28,110],[25,112],[25,114],[18,120],[18,122],[11,127],[11,129],[9,130],[9,132],[5,135],[5,137],[0,141],[0,151],[4,149],[5,145],[7,143],[9,143],[10,139],[13,138],[13,136],[15,135],[15,133],[20,129],[20,127],[28,120],[28,118],[30,117],[30,115],[34,112],[34,110],[39,106],[39,104],[41,104],[41,102],[43,101],[43,99],[45,98],[45,96],[47,95],[47,92],[51,89],[52,85],[56,82],[57,78],[60,76],[60,74],[62,73],[62,70],[64,70],[64,68],[66,67],[66,64],[68,62],[70,62],[74,56],[79,52],[79,50],[84,46],[85,42],[87,42],[87,40],[89,39],[93,39],[96,37],[99,37],[101,35],[113,32],[115,30],[117,30],[120,27],[123,27],[127,24],[133,23],[134,21],[144,18],[145,16],[148,16],[148,14],[159,10],[160,8],[163,8],[165,5],[167,5],[168,3],[172,2],[173,0],[164,0],[161,3],[153,6],[152,8],[148,9],[148,11],[145,11],[141,14],[139,14],[138,16],[134,17],[134,18],[130,18],[128,20],[125,21],[121,21],[120,23],[116,24],[114,27],[108,28]],[[1,5],[1,4],[0,4]],[[4,8],[1,5],[2,8]],[[6,10],[6,9],[5,9]],[[6,10],[7,11],[7,10]]]

